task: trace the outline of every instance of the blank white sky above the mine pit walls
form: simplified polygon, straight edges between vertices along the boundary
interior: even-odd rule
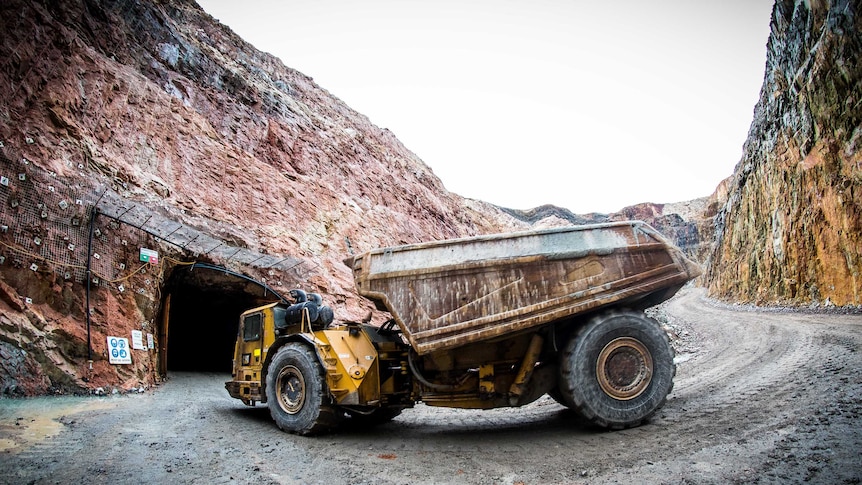
[[[710,195],[742,156],[772,0],[198,0],[389,128],[446,188],[575,213]]]

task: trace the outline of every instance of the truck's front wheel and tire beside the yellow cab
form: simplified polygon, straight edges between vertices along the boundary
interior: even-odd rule
[[[281,347],[272,358],[266,375],[266,399],[272,419],[283,431],[318,434],[340,421],[323,366],[307,345],[298,342]]]

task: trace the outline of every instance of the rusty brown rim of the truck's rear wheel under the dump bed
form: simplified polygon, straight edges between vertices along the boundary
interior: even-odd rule
[[[599,386],[608,396],[628,401],[640,396],[652,381],[652,355],[638,339],[611,340],[596,360]]]

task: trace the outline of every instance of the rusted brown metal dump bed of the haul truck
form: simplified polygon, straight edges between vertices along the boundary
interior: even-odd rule
[[[348,264],[359,293],[392,314],[419,354],[669,298],[700,274],[639,221],[376,249]]]

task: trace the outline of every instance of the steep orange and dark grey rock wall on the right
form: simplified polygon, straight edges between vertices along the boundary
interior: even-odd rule
[[[775,4],[754,121],[716,219],[710,293],[862,304],[862,17],[857,1]]]

